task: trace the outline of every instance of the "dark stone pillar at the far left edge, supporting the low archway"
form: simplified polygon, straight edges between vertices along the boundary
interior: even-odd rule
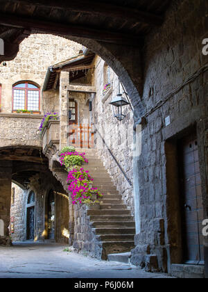
[[[3,220],[4,235],[9,234],[10,205],[12,188],[12,163],[0,162],[0,219]]]

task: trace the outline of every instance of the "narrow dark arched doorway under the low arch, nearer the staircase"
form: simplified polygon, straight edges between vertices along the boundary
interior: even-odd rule
[[[55,197],[50,190],[47,200],[48,239],[55,239]]]

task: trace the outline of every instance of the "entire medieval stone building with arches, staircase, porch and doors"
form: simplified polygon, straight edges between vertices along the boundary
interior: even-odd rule
[[[25,1],[18,2],[23,8]],[[76,3],[52,7],[44,0],[31,2],[31,7],[24,6],[21,21],[14,15],[15,11],[21,16],[19,6],[0,4],[1,12],[12,15],[0,19],[0,36],[12,44],[0,56],[7,63],[0,67],[0,219],[4,233],[10,221],[15,230],[8,199],[11,181],[24,186],[29,180],[22,195],[23,210],[26,216],[35,205],[35,218],[42,218],[35,223],[38,239],[64,240],[62,229],[68,228],[69,244],[95,257],[106,259],[109,253],[131,250],[130,261],[146,270],[204,277],[208,270],[207,238],[202,234],[202,221],[208,216],[207,54],[202,49],[207,39],[207,1],[101,1],[94,3],[93,13],[90,5],[80,11]],[[28,21],[31,15],[33,21]],[[41,35],[40,46],[34,40],[27,54],[21,46],[19,50],[19,43],[37,32],[66,39],[56,39],[50,54],[44,51],[39,56],[40,47],[57,37],[44,40]],[[22,46],[33,38],[21,42]],[[7,62],[17,51],[21,58],[17,55]],[[21,60],[25,61],[21,64]],[[122,122],[116,121],[108,104],[119,93],[117,76],[124,86],[120,91],[126,90],[133,110],[125,108]],[[111,86],[103,95],[108,83]],[[24,87],[18,89],[19,84]],[[35,100],[40,92],[40,107],[33,104],[33,115],[15,112],[12,100],[21,99],[18,90],[32,91]],[[16,92],[13,99],[12,91]],[[46,111],[58,111],[60,120],[51,121],[40,139],[37,129]],[[101,209],[87,210],[72,206],[69,196],[69,220],[64,222],[64,195],[68,193],[58,151],[74,139],[69,116],[77,125],[86,123],[89,136],[94,136],[96,153],[86,150],[87,167],[105,197]],[[99,124],[107,129],[104,139]],[[133,159],[132,135],[134,140],[141,138],[141,155]],[[80,149],[82,143],[80,138]],[[54,234],[49,232],[53,206],[60,210],[54,217]],[[26,225],[21,222],[25,236],[18,240],[27,239]]]

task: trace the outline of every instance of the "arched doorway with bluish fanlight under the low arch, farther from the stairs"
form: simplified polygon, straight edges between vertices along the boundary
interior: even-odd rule
[[[27,241],[33,241],[35,238],[35,193],[33,192],[33,190],[28,195],[26,210],[27,210],[26,239]]]

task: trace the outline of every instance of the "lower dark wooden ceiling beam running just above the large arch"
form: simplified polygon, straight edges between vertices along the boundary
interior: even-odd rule
[[[48,22],[35,17],[26,18],[18,15],[0,14],[0,24],[4,26],[12,26],[17,29],[29,29],[40,33],[52,33],[55,35],[72,36],[78,38],[87,38],[98,40],[101,42],[110,42],[116,44],[139,46],[143,40],[141,35],[130,35],[127,33],[116,33],[105,31],[103,29],[92,29],[86,26],[75,24],[62,24],[58,22]]]

